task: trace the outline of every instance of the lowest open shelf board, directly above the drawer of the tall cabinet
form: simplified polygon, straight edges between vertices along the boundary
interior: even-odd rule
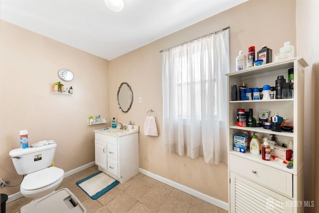
[[[237,152],[237,151],[232,150],[232,151],[229,151],[229,154],[236,155],[238,157],[242,157],[242,158],[254,161],[256,163],[260,163],[260,164],[263,164],[263,165],[266,165],[269,167],[273,167],[275,169],[279,169],[279,170],[282,170],[282,171],[285,171],[285,172],[288,172],[291,174],[295,174],[294,169],[287,168],[287,164],[284,164],[284,163],[279,162],[279,161],[275,161],[273,159],[271,159],[270,161],[265,161],[262,159],[261,155],[252,154],[249,151],[247,151],[246,153],[241,153],[241,152]]]

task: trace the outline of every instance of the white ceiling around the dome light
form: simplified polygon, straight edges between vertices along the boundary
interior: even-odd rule
[[[0,0],[0,19],[111,60],[245,1]]]

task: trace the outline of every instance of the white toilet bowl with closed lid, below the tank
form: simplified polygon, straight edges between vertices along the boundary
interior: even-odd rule
[[[23,179],[20,192],[28,198],[40,198],[53,192],[62,182],[64,171],[57,167],[48,167],[28,174]]]

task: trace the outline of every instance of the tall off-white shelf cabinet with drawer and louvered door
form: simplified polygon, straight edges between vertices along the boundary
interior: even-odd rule
[[[229,212],[304,212],[304,67],[303,58],[264,64],[243,71],[226,74],[228,80],[228,176]],[[283,75],[288,82],[288,69],[294,68],[294,97],[290,99],[231,101],[232,85],[246,83],[247,88],[275,86],[277,76]],[[259,120],[259,110],[269,110],[273,116],[278,112],[285,125],[294,126],[294,132],[274,132],[263,127],[237,126],[237,109],[253,109]],[[271,139],[274,134],[279,145],[294,141],[294,167],[288,169],[281,161],[264,161],[261,155],[240,153],[233,150],[234,135],[254,131]],[[301,203],[303,202],[303,203]]]

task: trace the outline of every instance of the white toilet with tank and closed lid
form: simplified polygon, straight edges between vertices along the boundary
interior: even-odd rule
[[[14,168],[22,180],[20,192],[27,198],[39,199],[61,184],[64,171],[49,167],[54,158],[56,143],[26,149],[14,149],[9,152]]]

